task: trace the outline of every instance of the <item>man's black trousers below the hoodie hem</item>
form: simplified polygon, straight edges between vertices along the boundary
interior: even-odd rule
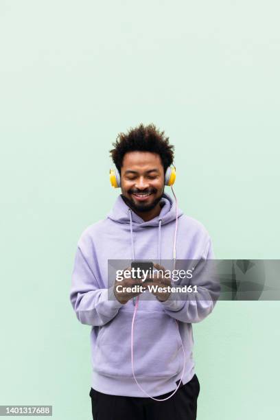
[[[159,395],[163,399],[172,394]],[[93,420],[196,420],[200,384],[196,374],[166,401],[149,397],[121,397],[91,388]]]

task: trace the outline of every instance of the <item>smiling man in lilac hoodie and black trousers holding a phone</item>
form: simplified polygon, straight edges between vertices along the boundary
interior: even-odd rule
[[[139,301],[143,291],[122,294],[117,280],[109,289],[108,260],[172,260],[174,242],[177,259],[213,259],[211,239],[200,222],[178,209],[174,240],[176,206],[164,192],[174,146],[164,132],[153,124],[140,124],[120,133],[113,145],[110,154],[119,172],[121,194],[107,217],[82,233],[70,293],[78,320],[91,325],[93,419],[195,420],[200,384],[194,372],[191,323],[213,310],[216,285],[208,281],[198,287],[200,299],[176,301],[170,292],[154,292],[154,300]],[[130,277],[124,283],[135,285],[139,279]],[[132,373],[135,299],[139,309]]]

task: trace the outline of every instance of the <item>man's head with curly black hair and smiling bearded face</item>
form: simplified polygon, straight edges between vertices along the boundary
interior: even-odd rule
[[[121,132],[113,145],[110,155],[121,176],[121,196],[137,213],[152,211],[163,196],[174,146],[154,124]]]

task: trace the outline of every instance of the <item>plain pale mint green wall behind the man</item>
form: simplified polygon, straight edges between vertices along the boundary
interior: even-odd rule
[[[69,287],[80,233],[119,194],[118,132],[154,122],[170,136],[180,208],[217,258],[280,257],[279,12],[272,0],[1,1],[0,404],[90,418],[90,327]],[[279,310],[219,302],[194,325],[198,420],[277,418]]]

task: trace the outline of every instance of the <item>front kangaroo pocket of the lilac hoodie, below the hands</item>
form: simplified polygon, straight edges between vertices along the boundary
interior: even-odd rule
[[[114,377],[132,377],[131,323],[133,312],[119,310],[97,336],[93,352],[95,371]],[[172,377],[183,368],[178,325],[165,312],[138,311],[133,333],[136,377]]]

